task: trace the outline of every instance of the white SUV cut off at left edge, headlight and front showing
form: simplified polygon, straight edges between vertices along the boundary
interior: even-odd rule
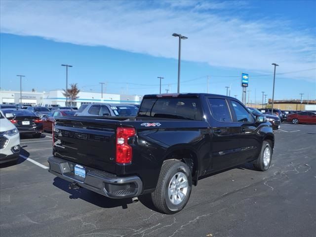
[[[11,116],[10,114],[8,115]],[[18,129],[0,111],[0,164],[16,162],[20,154]]]

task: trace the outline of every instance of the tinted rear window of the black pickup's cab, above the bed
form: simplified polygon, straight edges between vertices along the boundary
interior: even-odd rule
[[[197,98],[144,99],[139,117],[202,120]]]

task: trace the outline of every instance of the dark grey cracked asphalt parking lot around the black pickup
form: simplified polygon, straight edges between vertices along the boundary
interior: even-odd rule
[[[311,237],[316,233],[316,125],[283,124],[272,167],[245,164],[199,180],[184,210],[114,200],[48,173],[51,134],[21,139],[0,168],[1,237]]]

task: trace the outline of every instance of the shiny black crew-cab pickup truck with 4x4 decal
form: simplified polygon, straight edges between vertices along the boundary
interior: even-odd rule
[[[265,171],[274,133],[237,99],[146,95],[135,118],[60,117],[49,172],[110,198],[151,193],[157,209],[184,208],[199,178],[245,162]]]

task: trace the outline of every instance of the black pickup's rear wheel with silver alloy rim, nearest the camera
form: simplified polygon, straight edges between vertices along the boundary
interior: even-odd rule
[[[192,174],[189,167],[179,160],[167,160],[162,164],[151,198],[158,211],[174,214],[188,203],[191,191]]]

